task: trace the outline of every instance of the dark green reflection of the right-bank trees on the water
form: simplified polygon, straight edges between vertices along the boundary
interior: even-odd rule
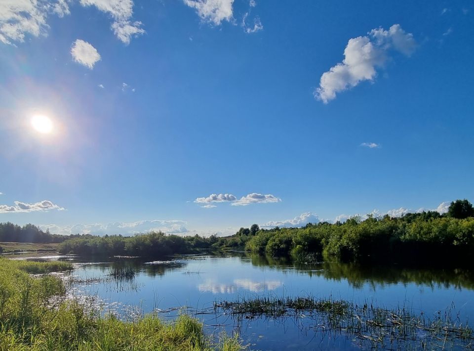
[[[361,265],[358,263],[322,262],[298,264],[290,259],[249,255],[246,260],[255,266],[272,267],[280,271],[298,271],[308,276],[330,280],[347,280],[355,288],[369,284],[374,288],[389,284],[417,284],[431,288],[474,290],[474,271],[464,268],[413,268],[395,265]]]

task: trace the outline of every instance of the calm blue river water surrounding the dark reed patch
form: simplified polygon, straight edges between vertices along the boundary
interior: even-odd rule
[[[360,267],[356,264],[324,262],[293,264],[284,260],[235,253],[225,256],[179,256],[167,261],[145,262],[140,258],[113,258],[100,262],[72,259],[78,283],[75,294],[96,296],[104,310],[133,316],[153,310],[163,318],[187,306],[193,314],[220,300],[254,296],[313,296],[343,299],[363,305],[396,308],[434,315],[455,308],[461,320],[474,317],[474,275],[468,269],[412,269]],[[114,268],[130,267],[131,280],[104,279]],[[315,331],[314,321],[299,318],[243,318],[196,314],[206,331],[238,332],[251,350],[353,350],[354,338]],[[471,317],[471,318],[470,318]],[[316,328],[317,329],[317,328]]]

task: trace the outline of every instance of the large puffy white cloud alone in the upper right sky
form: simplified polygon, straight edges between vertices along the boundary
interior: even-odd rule
[[[410,56],[415,48],[413,35],[406,33],[399,24],[389,30],[372,29],[366,36],[352,38],[344,50],[344,60],[322,74],[314,95],[328,103],[341,91],[363,81],[373,81],[391,50]]]

